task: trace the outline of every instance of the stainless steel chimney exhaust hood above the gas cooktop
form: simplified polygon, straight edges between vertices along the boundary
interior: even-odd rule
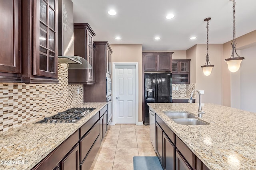
[[[86,59],[74,56],[73,2],[58,0],[58,63],[67,63],[69,69],[91,69]]]

